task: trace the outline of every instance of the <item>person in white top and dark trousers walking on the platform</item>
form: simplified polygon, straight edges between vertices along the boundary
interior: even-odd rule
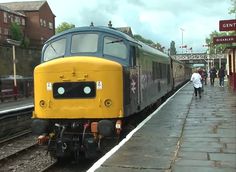
[[[193,83],[195,97],[197,97],[197,93],[198,93],[199,97],[201,98],[201,89],[202,89],[202,82],[201,81],[202,81],[202,77],[198,73],[197,69],[192,74],[190,81]]]

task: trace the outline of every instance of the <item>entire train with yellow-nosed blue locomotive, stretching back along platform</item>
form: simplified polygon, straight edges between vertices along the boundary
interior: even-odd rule
[[[109,27],[50,38],[34,70],[33,132],[52,156],[94,157],[124,120],[187,81],[191,69]]]

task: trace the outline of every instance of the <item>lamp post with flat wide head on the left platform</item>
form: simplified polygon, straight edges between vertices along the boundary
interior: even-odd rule
[[[14,77],[14,87],[13,87],[13,93],[15,100],[17,99],[17,83],[16,83],[16,51],[15,46],[20,45],[20,41],[16,41],[13,39],[6,39],[7,43],[12,45],[12,64],[13,64],[13,77]]]

